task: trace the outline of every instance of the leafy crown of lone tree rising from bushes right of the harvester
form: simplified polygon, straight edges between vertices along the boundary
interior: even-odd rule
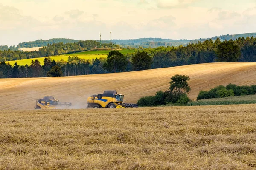
[[[188,83],[189,79],[190,79],[189,76],[186,76],[186,75],[176,74],[172,76],[171,82],[169,82],[170,91],[178,92],[178,93],[189,93],[189,91],[191,90]]]

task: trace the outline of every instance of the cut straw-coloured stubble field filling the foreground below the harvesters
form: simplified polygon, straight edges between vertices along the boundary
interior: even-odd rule
[[[255,108],[1,111],[0,169],[250,170]]]

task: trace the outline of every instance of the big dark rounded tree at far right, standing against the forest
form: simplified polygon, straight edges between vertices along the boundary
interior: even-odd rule
[[[222,42],[218,45],[217,62],[238,62],[241,57],[241,51],[238,45],[232,40]]]

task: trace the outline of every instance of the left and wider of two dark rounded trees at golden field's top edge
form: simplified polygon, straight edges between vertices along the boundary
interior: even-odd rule
[[[120,53],[119,51],[113,50],[109,52],[107,62],[104,63],[103,68],[105,68],[109,72],[114,71],[116,73],[116,71],[125,71],[127,64],[128,61],[124,54]]]

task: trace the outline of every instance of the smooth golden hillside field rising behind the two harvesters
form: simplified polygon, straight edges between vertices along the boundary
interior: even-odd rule
[[[200,90],[217,85],[256,84],[256,63],[207,63],[116,74],[0,79],[0,109],[33,109],[35,99],[44,96],[72,102],[73,108],[85,108],[88,96],[107,89],[125,94],[125,102],[134,103],[141,96],[167,90],[174,74],[189,75],[189,97],[195,99]]]

